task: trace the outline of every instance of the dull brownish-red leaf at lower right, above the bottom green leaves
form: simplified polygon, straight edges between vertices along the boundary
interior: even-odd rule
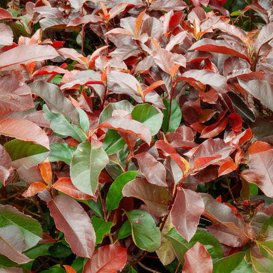
[[[216,239],[222,243],[232,247],[242,247],[248,242],[246,236],[238,234],[234,230],[228,228],[223,224],[216,224],[207,226],[208,231],[216,237]]]

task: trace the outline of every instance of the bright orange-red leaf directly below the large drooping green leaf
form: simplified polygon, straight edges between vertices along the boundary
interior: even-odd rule
[[[56,188],[57,191],[68,194],[73,198],[80,200],[93,199],[93,196],[85,194],[79,191],[72,183],[69,177],[59,178],[52,187]]]

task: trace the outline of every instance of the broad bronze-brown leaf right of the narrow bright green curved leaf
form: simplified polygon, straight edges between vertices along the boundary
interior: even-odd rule
[[[134,179],[124,185],[122,194],[141,199],[148,206],[149,211],[157,217],[167,214],[169,193],[166,188],[151,184],[145,178]]]

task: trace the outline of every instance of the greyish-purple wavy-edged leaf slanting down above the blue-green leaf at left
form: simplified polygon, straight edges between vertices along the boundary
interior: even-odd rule
[[[79,113],[77,109],[56,85],[43,80],[36,80],[31,83],[30,88],[32,89],[32,93],[46,101],[52,113],[65,115],[74,124],[79,123]]]

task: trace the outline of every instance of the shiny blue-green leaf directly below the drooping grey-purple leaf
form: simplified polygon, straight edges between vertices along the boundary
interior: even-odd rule
[[[50,128],[55,133],[64,137],[71,136],[78,140],[79,142],[86,141],[86,136],[85,134],[83,134],[82,130],[78,128],[76,125],[71,124],[64,115],[50,112],[46,104],[43,107],[43,111],[45,112],[44,117],[51,122]],[[83,126],[85,127],[86,121],[84,120],[82,123]]]

